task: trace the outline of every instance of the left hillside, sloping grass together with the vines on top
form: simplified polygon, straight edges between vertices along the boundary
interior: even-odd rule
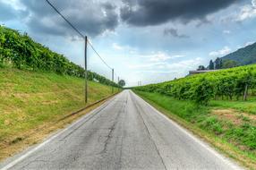
[[[42,140],[80,115],[86,105],[117,92],[115,82],[84,69],[17,30],[0,26],[0,160]],[[62,120],[62,121],[58,121]],[[57,122],[57,123],[56,123]]]

